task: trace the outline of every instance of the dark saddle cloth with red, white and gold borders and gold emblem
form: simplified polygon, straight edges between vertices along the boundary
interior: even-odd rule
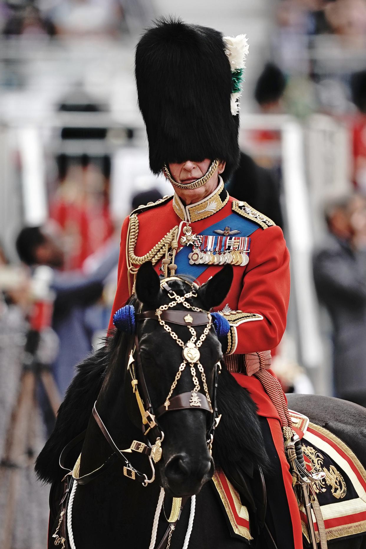
[[[352,450],[333,433],[309,423],[302,414],[290,411],[296,431],[302,434],[302,449],[308,470],[324,472],[325,478],[314,485],[322,511],[326,539],[344,538],[366,532],[366,470]],[[307,420],[307,421],[306,421]],[[213,483],[227,515],[234,537],[252,540],[250,518],[240,495],[221,470]],[[303,535],[309,540],[305,509],[300,506]],[[318,525],[313,516],[319,542]]]

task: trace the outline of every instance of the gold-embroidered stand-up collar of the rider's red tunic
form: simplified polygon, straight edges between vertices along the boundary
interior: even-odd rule
[[[217,211],[221,210],[227,204],[228,200],[229,193],[224,187],[222,177],[219,176],[218,187],[215,191],[195,204],[184,206],[178,195],[174,194],[173,209],[182,221],[200,221],[201,219],[205,219],[205,217],[216,214]]]

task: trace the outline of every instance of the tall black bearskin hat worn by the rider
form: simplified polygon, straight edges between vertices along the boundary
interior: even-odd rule
[[[239,160],[239,114],[232,115],[232,71],[220,32],[161,18],[136,48],[138,104],[149,140],[150,168],[185,160]]]

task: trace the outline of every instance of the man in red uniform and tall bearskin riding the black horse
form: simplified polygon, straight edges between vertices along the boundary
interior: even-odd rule
[[[292,424],[270,369],[271,349],[286,326],[289,252],[281,229],[229,197],[224,186],[239,159],[239,96],[247,48],[243,35],[224,38],[208,27],[173,19],[159,20],[140,39],[136,82],[150,167],[155,174],[164,173],[174,195],[140,206],[123,223],[112,313],[129,300],[144,262],[153,262],[164,277],[188,275],[198,284],[222,265],[233,266],[227,298],[215,307],[229,322],[221,339],[224,362],[256,402],[271,458],[266,523],[278,547],[302,549],[284,450]]]

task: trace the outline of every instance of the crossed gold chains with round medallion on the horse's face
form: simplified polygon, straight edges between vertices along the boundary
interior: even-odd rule
[[[194,383],[194,389],[193,389],[192,393],[196,393],[196,394],[199,393],[200,384],[199,384],[198,377],[196,376],[196,369],[195,369],[195,366],[194,366],[195,363],[196,363],[197,367],[199,369],[199,372],[201,374],[201,380],[202,380],[202,385],[204,386],[206,399],[207,399],[207,402],[209,402],[211,412],[212,412],[213,410],[212,410],[212,404],[211,404],[211,399],[210,399],[210,394],[209,394],[209,388],[207,387],[206,374],[205,374],[205,371],[204,371],[204,367],[202,366],[201,362],[199,361],[200,353],[198,351],[198,349],[200,348],[202,343],[204,343],[204,341],[207,337],[207,334],[210,332],[211,324],[212,324],[211,315],[210,314],[207,315],[207,321],[208,321],[207,325],[206,325],[204,331],[202,332],[202,334],[200,335],[200,338],[199,338],[198,341],[197,341],[196,330],[193,328],[193,326],[188,326],[188,329],[189,329],[190,333],[192,334],[192,337],[187,341],[186,344],[184,344],[182,339],[180,339],[178,337],[178,335],[175,332],[173,332],[172,328],[170,326],[168,326],[168,324],[166,324],[164,322],[164,320],[162,320],[162,318],[160,317],[160,313],[162,311],[168,310],[169,307],[175,307],[178,304],[182,304],[184,307],[186,307],[186,309],[191,309],[192,311],[195,311],[195,312],[205,312],[205,311],[203,309],[200,309],[199,307],[195,307],[193,305],[190,305],[186,301],[189,298],[197,296],[197,294],[194,292],[194,290],[192,290],[191,292],[188,292],[187,294],[184,294],[184,295],[177,295],[175,292],[172,292],[172,293],[173,293],[173,296],[174,296],[174,301],[171,301],[168,305],[161,305],[159,307],[159,309],[156,310],[156,313],[157,313],[157,317],[159,319],[160,326],[162,326],[165,329],[165,331],[172,337],[172,339],[174,339],[174,341],[177,342],[177,344],[180,347],[182,347],[182,349],[187,349],[185,354],[184,354],[184,351],[183,351],[183,357],[184,357],[184,359],[186,359],[186,357],[187,357],[188,360],[184,360],[181,363],[181,365],[179,366],[178,372],[176,373],[176,377],[174,378],[174,381],[171,385],[169,394],[166,397],[164,405],[166,407],[166,410],[168,410],[168,407],[170,406],[170,400],[169,399],[172,396],[173,391],[176,388],[177,383],[178,383],[179,379],[182,376],[182,372],[184,371],[185,366],[187,366],[187,363],[189,363],[190,373],[192,374],[192,379],[193,379],[193,383]],[[194,402],[195,402],[194,395],[192,395],[192,402],[193,402],[192,405],[194,406],[195,405],[194,404]]]

